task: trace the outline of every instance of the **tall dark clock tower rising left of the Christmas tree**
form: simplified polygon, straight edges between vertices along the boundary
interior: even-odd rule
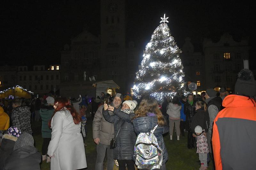
[[[126,60],[125,0],[100,1],[100,49],[104,64],[102,80],[114,80],[124,87],[123,75]]]

